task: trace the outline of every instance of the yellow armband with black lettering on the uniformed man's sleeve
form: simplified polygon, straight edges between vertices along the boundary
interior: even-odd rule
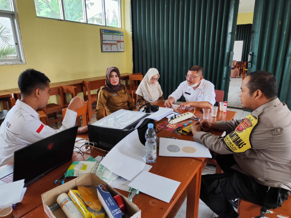
[[[224,137],[224,144],[234,153],[242,153],[252,148],[251,134],[258,124],[258,118],[247,115],[242,122],[235,128],[235,131]]]

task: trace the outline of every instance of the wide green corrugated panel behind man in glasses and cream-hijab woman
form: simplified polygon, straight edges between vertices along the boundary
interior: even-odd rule
[[[238,5],[239,0],[132,0],[134,72],[157,68],[168,97],[188,68],[200,65],[204,78],[228,93]]]

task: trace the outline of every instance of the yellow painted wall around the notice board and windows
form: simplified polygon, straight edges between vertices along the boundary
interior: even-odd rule
[[[27,68],[45,73],[52,83],[104,76],[109,66],[132,73],[130,2],[121,0],[122,28],[37,18],[33,0],[17,0],[26,64],[0,65],[0,90],[17,87]],[[100,28],[124,31],[125,52],[102,53]]]

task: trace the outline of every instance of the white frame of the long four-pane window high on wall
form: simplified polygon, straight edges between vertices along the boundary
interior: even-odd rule
[[[106,27],[113,27],[113,28],[120,28],[122,29],[122,22],[121,22],[121,1],[120,0],[116,0],[118,2],[118,10],[119,10],[119,19],[118,19],[118,25],[119,27],[116,27],[116,26],[107,26],[106,24],[106,9],[105,9],[105,0],[101,0],[102,1],[102,9],[103,9],[103,23],[105,25],[100,25],[100,24],[90,24],[88,23],[88,18],[87,18],[87,8],[86,8],[86,0],[83,0],[83,12],[84,12],[84,18],[85,18],[85,22],[78,22],[78,21],[72,21],[72,20],[66,20],[65,19],[65,12],[64,12],[64,3],[63,3],[63,0],[58,0],[59,2],[59,7],[60,7],[60,17],[61,19],[56,19],[56,18],[51,18],[51,17],[41,17],[41,16],[37,16],[38,18],[45,18],[45,19],[53,19],[53,20],[62,20],[62,21],[67,21],[67,22],[75,22],[75,23],[80,23],[80,24],[89,24],[89,25],[96,25],[96,26],[106,26]],[[34,3],[33,3],[34,4]],[[35,5],[34,5],[34,9],[36,10],[35,8]]]

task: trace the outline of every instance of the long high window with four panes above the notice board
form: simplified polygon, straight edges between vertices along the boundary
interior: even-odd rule
[[[120,27],[120,0],[34,0],[36,16]]]

